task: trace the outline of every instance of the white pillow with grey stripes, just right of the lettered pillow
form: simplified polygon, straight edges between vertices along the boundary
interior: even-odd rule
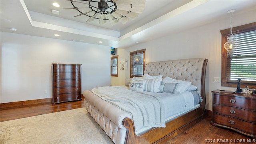
[[[159,87],[161,85],[162,79],[148,79],[144,86],[144,91],[147,92],[160,92]]]

